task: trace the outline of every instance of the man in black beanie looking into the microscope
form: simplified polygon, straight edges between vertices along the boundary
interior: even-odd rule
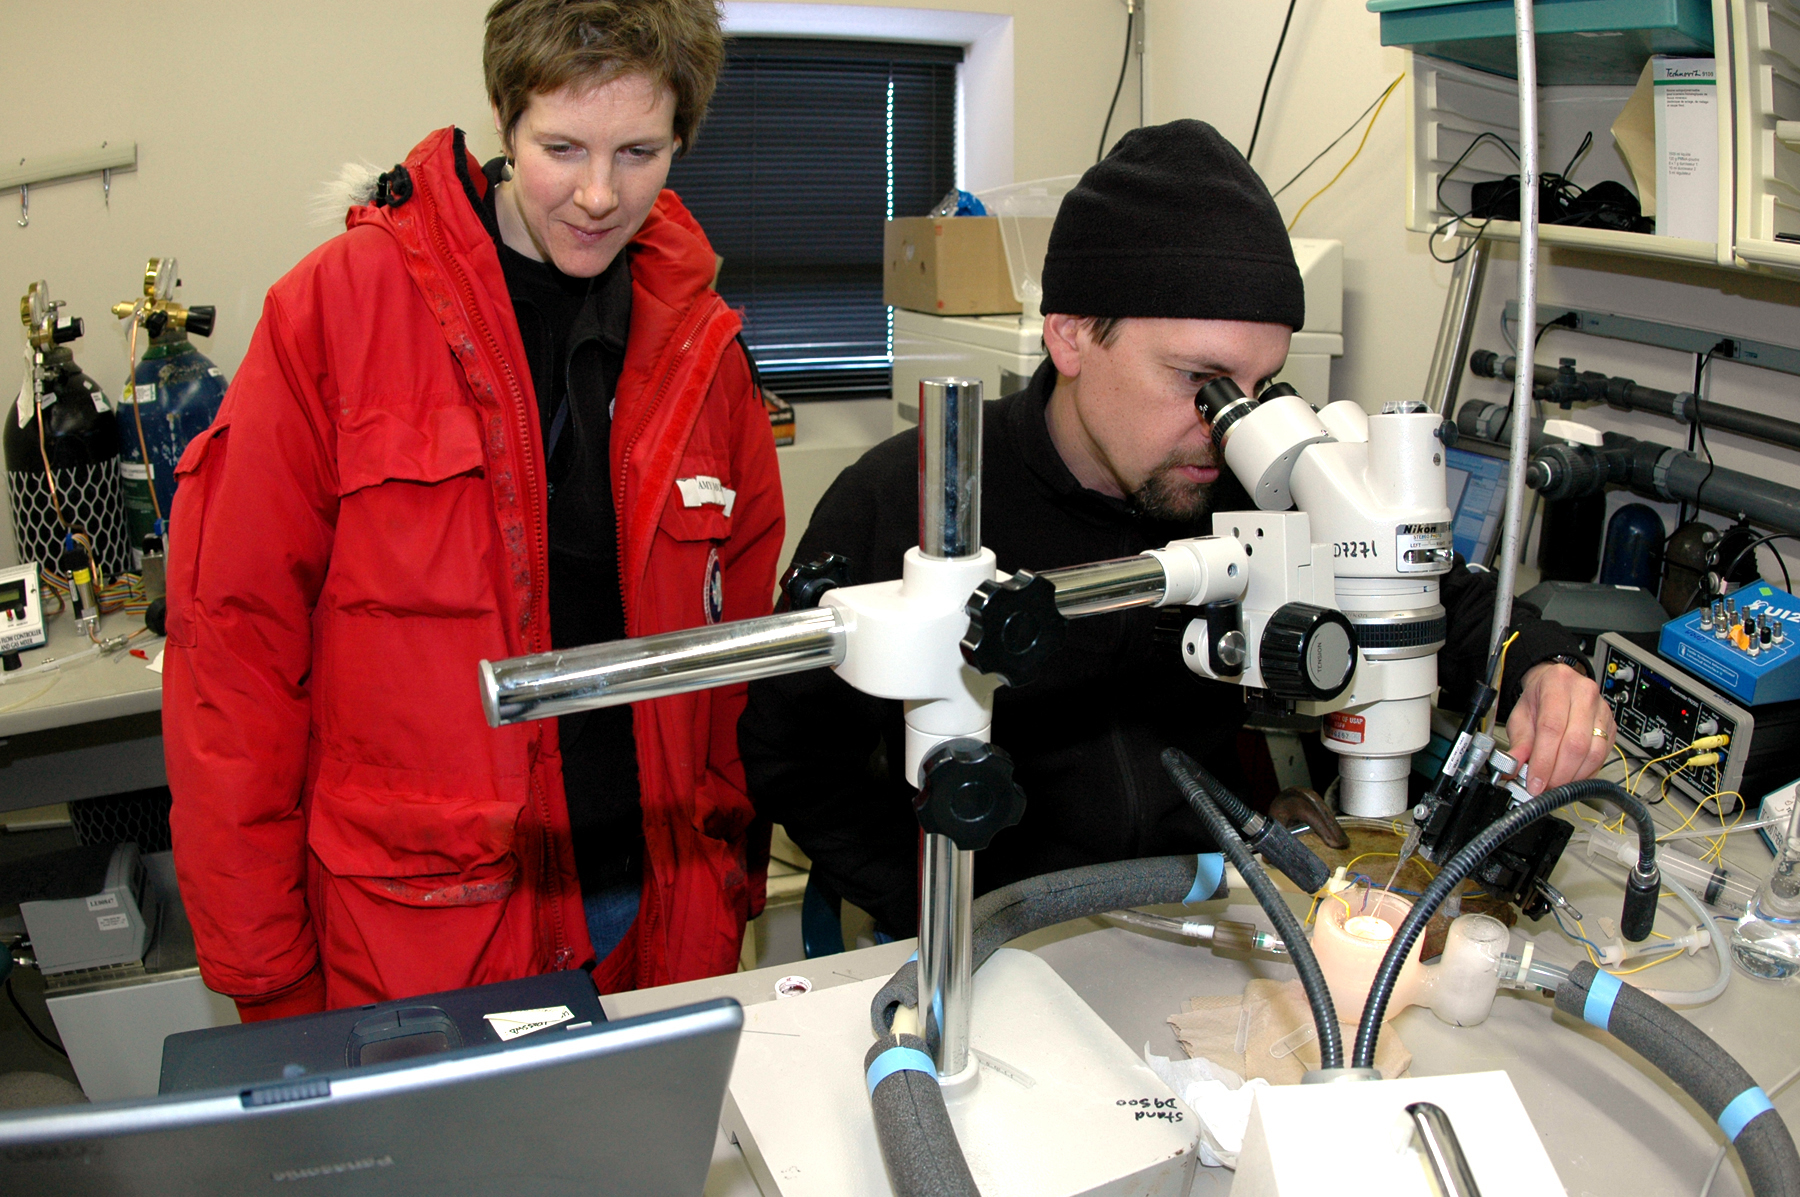
[[[983,414],[981,531],[999,569],[1134,556],[1208,535],[1213,509],[1253,506],[1219,468],[1193,396],[1215,378],[1255,394],[1280,373],[1305,292],[1274,202],[1229,142],[1199,121],[1120,139],[1062,202],[1042,310],[1049,358]],[[898,578],[918,544],[916,488],[918,436],[877,445],[819,500],[794,560],[839,553],[853,585]],[[1456,697],[1485,662],[1492,574],[1458,565],[1442,592],[1440,679]],[[1521,634],[1499,700],[1514,747],[1541,783],[1588,776],[1611,745],[1607,707],[1573,637],[1514,610]],[[1190,673],[1157,625],[1156,610],[1073,621],[1033,682],[995,693],[994,742],[1028,805],[976,857],[977,893],[1211,848],[1159,754],[1179,747],[1246,792],[1244,697]],[[751,797],[812,857],[814,882],[913,934],[918,824],[900,776],[900,704],[823,670],[754,682],[738,740]],[[1282,815],[1296,814],[1336,833],[1321,808],[1291,797]]]

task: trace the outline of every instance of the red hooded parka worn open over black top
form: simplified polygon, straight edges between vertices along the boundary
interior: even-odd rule
[[[180,464],[175,860],[202,976],[252,1019],[592,958],[556,722],[490,729],[477,686],[477,661],[551,646],[538,407],[473,207],[486,180],[455,130],[405,171],[410,194],[353,209],[270,288]],[[767,614],[781,486],[713,248],[664,191],[628,254],[612,419],[626,634]],[[731,506],[677,486],[695,477]],[[644,882],[594,972],[603,992],[736,967],[767,846],[742,707],[742,686],[634,707]]]

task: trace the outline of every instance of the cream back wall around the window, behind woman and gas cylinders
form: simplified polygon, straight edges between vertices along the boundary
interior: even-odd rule
[[[391,166],[452,122],[477,153],[499,151],[481,83],[486,7],[191,0],[151,14],[126,0],[0,5],[0,77],[11,95],[0,106],[0,153],[139,144],[139,169],[113,176],[110,209],[97,178],[34,189],[29,229],[14,225],[13,196],[0,200],[4,310],[27,283],[47,279],[52,297],[88,320],[77,360],[117,394],[124,337],[106,308],[139,293],[146,257],[173,254],[182,297],[218,304],[218,333],[202,347],[232,373],[268,284],[342,227],[310,223],[310,205],[344,162]],[[740,7],[752,16],[819,7],[824,25],[850,5]],[[979,47],[972,58],[1004,58],[1008,41],[1015,56],[1010,68],[974,63],[990,83],[970,95],[972,121],[992,121],[1003,86],[992,81],[1008,72],[1001,99],[1015,115],[1010,144],[970,146],[972,182],[1064,175],[1093,158],[1123,47],[1120,0],[914,0],[884,20],[900,29],[918,9],[932,11],[920,22],[931,40],[961,29]],[[1132,88],[1120,110],[1134,119]],[[22,346],[20,333],[7,337]]]

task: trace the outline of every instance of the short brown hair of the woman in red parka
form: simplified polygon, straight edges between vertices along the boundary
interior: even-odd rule
[[[693,148],[725,61],[716,0],[497,0],[481,65],[511,148],[535,94],[644,74],[675,94],[677,151]]]

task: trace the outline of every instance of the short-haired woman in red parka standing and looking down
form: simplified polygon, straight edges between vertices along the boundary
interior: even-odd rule
[[[441,130],[374,180],[182,459],[175,859],[245,1019],[738,961],[743,689],[491,731],[475,670],[769,610],[774,441],[662,191],[722,58],[713,0],[495,4],[506,157]]]

